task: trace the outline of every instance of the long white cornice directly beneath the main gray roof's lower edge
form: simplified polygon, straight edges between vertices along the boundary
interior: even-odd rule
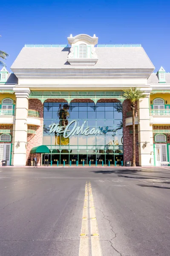
[[[18,79],[147,79],[153,72],[153,69],[110,67],[84,68],[81,67],[81,65],[75,68],[71,65],[68,67],[67,64],[66,67],[63,68],[12,68],[12,71]],[[145,86],[145,84],[143,86]],[[148,84],[146,84],[146,86],[149,87]]]

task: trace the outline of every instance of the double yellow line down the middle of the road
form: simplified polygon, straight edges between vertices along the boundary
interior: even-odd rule
[[[90,221],[89,221],[90,217]],[[90,235],[88,224],[90,223]],[[79,247],[79,256],[88,256],[91,240],[92,256],[101,256],[101,247],[99,241],[98,223],[95,215],[95,206],[92,195],[91,183],[86,181],[85,195],[84,195],[84,206],[83,216],[81,225],[81,239]],[[91,237],[91,239],[89,239]]]

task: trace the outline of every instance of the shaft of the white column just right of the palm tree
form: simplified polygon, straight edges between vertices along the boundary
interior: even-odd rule
[[[149,97],[138,101],[138,142],[139,165],[151,166],[151,141],[150,141],[150,104]],[[145,143],[147,145],[145,146]],[[152,143],[153,144],[153,143]],[[153,146],[152,146],[153,147]]]

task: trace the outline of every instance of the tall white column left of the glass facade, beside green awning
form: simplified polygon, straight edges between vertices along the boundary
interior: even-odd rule
[[[27,116],[29,88],[14,88],[16,95],[16,119],[14,136],[14,166],[26,165]]]

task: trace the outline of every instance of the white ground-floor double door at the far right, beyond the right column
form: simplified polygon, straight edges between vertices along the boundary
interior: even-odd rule
[[[161,166],[161,163],[167,162],[167,144],[156,144],[156,166]]]

